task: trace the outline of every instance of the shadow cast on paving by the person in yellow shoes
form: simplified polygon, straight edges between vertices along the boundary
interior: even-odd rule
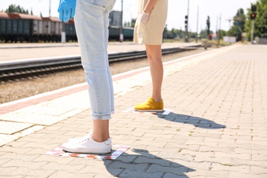
[[[226,128],[225,125],[220,125],[214,123],[212,120],[207,120],[205,118],[199,118],[196,116],[189,116],[183,114],[175,114],[170,112],[168,115],[156,114],[159,118],[164,118],[165,120],[173,121],[176,123],[184,123],[194,125],[195,127],[200,127],[203,129],[223,129]]]

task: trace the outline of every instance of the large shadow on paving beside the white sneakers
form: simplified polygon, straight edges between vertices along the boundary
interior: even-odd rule
[[[107,171],[114,177],[183,177],[195,171],[176,162],[164,160],[144,149],[131,149],[133,154],[123,153],[116,160],[103,160]],[[168,153],[166,153],[168,154]],[[172,157],[172,155],[169,155]]]

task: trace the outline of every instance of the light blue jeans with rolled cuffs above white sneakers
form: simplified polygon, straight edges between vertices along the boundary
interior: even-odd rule
[[[108,63],[109,14],[116,0],[77,0],[75,28],[86,74],[92,119],[114,113],[114,90]]]

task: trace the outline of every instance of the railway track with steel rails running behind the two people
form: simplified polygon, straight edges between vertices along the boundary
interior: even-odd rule
[[[194,49],[196,49],[196,46],[168,48],[162,49],[162,54],[177,53]],[[109,54],[109,62],[120,62],[138,58],[147,58],[146,51]],[[67,71],[75,68],[81,68],[80,55],[6,62],[0,64],[0,81],[12,81],[15,79],[34,77],[47,73],[56,73],[59,71]]]

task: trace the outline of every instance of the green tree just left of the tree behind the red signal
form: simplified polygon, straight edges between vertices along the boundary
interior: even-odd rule
[[[236,40],[240,41],[242,39],[242,33],[245,31],[246,15],[244,10],[240,8],[233,17],[233,26],[227,32],[228,36],[236,36]]]

